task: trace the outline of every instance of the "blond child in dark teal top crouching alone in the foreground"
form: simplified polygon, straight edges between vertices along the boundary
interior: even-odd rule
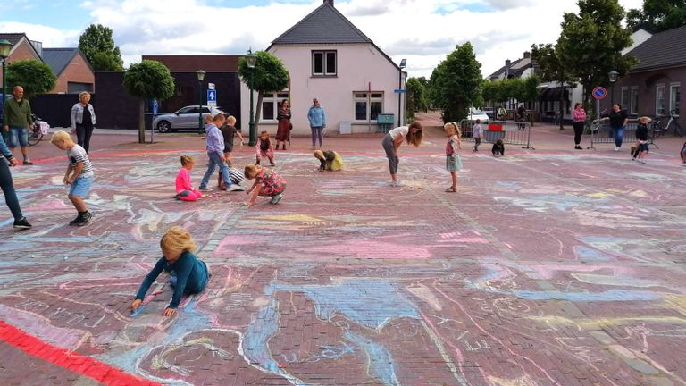
[[[146,292],[153,285],[157,276],[163,271],[170,274],[169,283],[174,289],[171,302],[164,311],[164,316],[171,316],[176,313],[181,297],[184,294],[197,294],[205,290],[207,281],[210,278],[210,270],[205,262],[198,260],[194,254],[196,242],[190,233],[180,226],[169,229],[160,240],[160,248],[163,257],[160,257],[150,273],[140,284],[136,300],[131,303],[131,311],[136,311],[146,298]]]

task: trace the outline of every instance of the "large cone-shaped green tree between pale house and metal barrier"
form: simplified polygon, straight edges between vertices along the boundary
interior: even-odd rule
[[[482,104],[481,81],[481,63],[472,44],[456,46],[429,79],[431,104],[442,109],[443,122],[461,121],[469,107]]]

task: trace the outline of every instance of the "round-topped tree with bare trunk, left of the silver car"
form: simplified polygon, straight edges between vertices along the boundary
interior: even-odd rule
[[[131,96],[140,98],[138,108],[138,143],[146,141],[146,99],[166,100],[174,95],[174,79],[169,69],[160,62],[144,60],[131,64],[124,72],[124,88]]]

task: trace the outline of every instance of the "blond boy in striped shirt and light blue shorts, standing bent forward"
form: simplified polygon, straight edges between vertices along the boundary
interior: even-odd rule
[[[93,171],[93,166],[90,164],[86,150],[75,144],[71,140],[71,136],[65,131],[55,131],[50,139],[50,143],[60,150],[66,150],[67,159],[69,159],[67,172],[64,173],[64,183],[71,185],[69,199],[79,213],[69,224],[84,226],[93,217],[88,212],[84,198],[88,197],[90,185],[93,183],[96,173]]]

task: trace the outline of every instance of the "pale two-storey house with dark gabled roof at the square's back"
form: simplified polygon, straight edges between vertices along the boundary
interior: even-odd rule
[[[289,98],[293,134],[310,133],[307,111],[317,98],[326,113],[328,132],[375,132],[379,114],[405,122],[406,72],[325,0],[313,13],[276,38],[266,50],[290,74],[290,87],[264,96],[258,131],[276,132],[276,111]],[[257,95],[255,94],[255,103]],[[243,88],[242,116],[249,116],[249,91]],[[398,110],[398,101],[399,107]],[[349,130],[349,131],[348,131]]]

